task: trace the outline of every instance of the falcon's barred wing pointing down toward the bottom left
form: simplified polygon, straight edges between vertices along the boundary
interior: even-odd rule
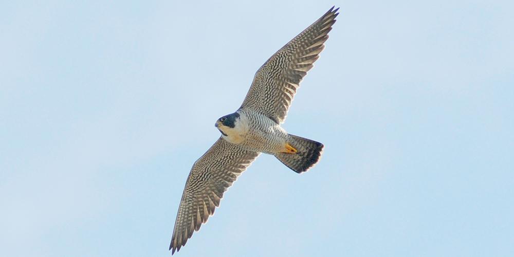
[[[223,193],[260,153],[247,151],[219,138],[194,164],[182,194],[170,250],[186,245],[193,232],[206,223]]]

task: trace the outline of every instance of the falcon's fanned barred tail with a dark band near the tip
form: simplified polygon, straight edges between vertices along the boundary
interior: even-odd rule
[[[296,153],[278,153],[275,157],[289,169],[302,173],[314,167],[319,161],[323,152],[323,144],[314,140],[289,135],[291,142],[288,142],[297,150]]]

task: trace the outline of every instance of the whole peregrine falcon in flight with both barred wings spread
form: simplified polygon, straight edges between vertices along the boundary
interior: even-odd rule
[[[221,137],[194,164],[178,208],[172,254],[206,223],[223,193],[261,153],[302,173],[320,159],[323,144],[288,134],[280,126],[300,82],[319,58],[339,8],[320,19],[271,56],[256,72],[241,107],[219,118]]]

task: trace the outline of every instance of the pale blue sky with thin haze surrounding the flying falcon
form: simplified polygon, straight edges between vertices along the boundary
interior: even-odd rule
[[[187,3],[186,3],[187,2]],[[0,255],[168,256],[193,162],[331,6],[284,127],[176,256],[512,256],[512,1],[4,1]]]

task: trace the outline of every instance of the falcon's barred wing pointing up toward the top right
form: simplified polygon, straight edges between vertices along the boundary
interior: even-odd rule
[[[325,47],[337,10],[332,7],[259,68],[241,108],[252,109],[279,124],[284,122],[300,82]]]

